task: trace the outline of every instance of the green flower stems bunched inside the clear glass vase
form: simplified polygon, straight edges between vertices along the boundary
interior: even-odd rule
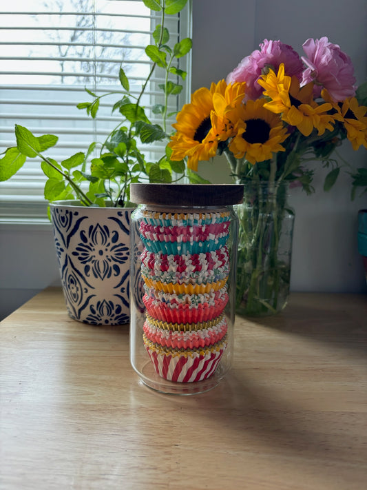
[[[237,162],[237,169],[243,161]],[[251,170],[251,169],[250,169]],[[240,241],[236,307],[238,312],[258,315],[274,314],[282,307],[286,263],[278,258],[280,234],[286,199],[276,176],[277,162],[269,162],[269,177],[260,180],[253,172],[242,179],[247,184],[244,205],[238,205]],[[283,298],[282,298],[283,299]],[[244,303],[242,304],[242,301]],[[243,307],[244,305],[244,307]]]

